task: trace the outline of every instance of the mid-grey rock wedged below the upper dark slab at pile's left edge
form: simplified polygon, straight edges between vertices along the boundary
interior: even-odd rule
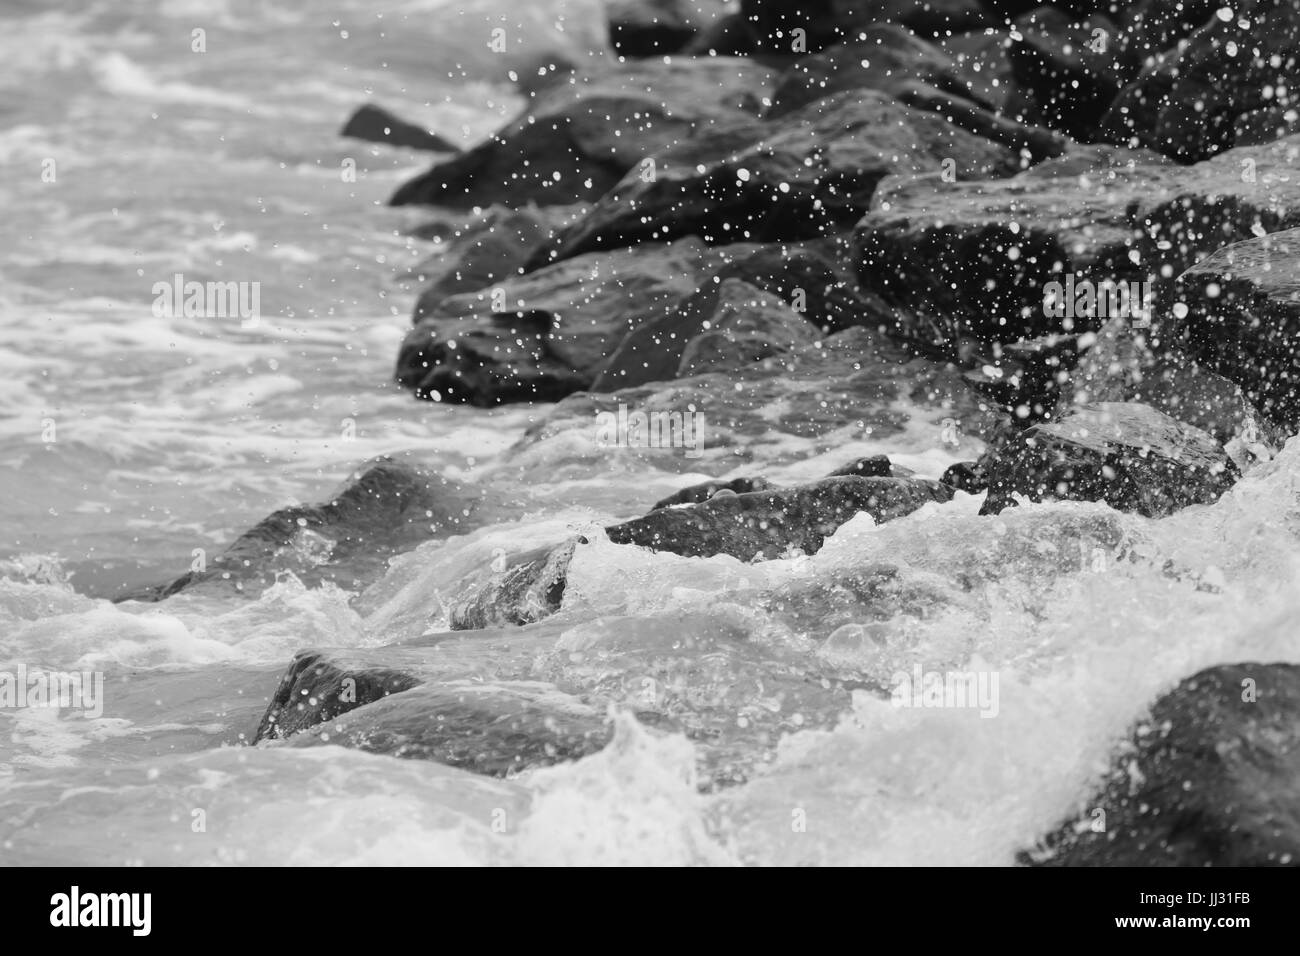
[[[528,258],[547,245],[578,207],[494,206],[482,217],[439,230],[441,247],[415,269],[424,289],[415,320],[434,315],[450,297],[488,289],[523,273]],[[442,233],[446,233],[443,241]]]

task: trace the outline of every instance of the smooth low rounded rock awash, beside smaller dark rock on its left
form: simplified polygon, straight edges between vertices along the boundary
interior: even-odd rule
[[[506,777],[604,748],[603,714],[551,684],[463,680],[394,693],[296,734],[335,745]]]

